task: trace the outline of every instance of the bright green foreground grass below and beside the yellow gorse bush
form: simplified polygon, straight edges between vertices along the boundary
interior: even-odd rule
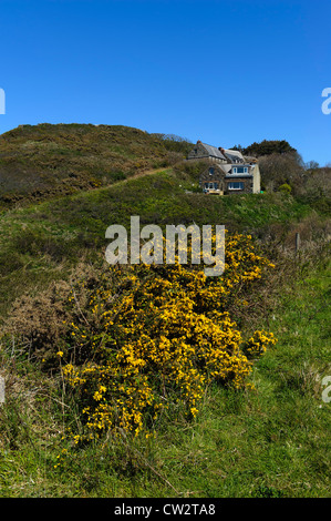
[[[2,354],[15,376],[1,410],[0,496],[328,497],[330,403],[321,378],[331,369],[329,296],[328,266],[285,285],[273,310],[278,344],[255,365],[255,391],[211,388],[194,422],[178,410],[156,439],[70,449],[59,469],[74,402],[24,354]]]

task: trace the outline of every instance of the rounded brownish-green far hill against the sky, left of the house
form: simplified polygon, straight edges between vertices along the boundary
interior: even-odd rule
[[[13,129],[0,135],[0,208],[108,185],[168,165],[176,145],[164,137],[121,125]]]

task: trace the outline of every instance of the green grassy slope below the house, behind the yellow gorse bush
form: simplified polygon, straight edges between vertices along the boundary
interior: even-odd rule
[[[187,193],[196,178],[167,168],[113,186],[66,195],[0,215],[0,315],[22,290],[38,292],[68,276],[81,258],[103,255],[111,224],[225,224],[229,231],[263,238],[276,224],[287,235],[291,223],[312,213],[282,194],[208,197]]]

